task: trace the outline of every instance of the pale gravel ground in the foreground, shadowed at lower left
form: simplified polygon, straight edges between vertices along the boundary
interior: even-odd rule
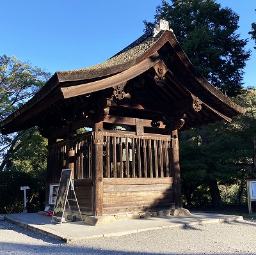
[[[256,220],[166,228],[76,243],[0,221],[0,254],[256,254]]]

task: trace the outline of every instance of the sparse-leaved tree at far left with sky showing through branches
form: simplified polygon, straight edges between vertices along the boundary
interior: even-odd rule
[[[0,121],[26,103],[51,76],[14,56],[0,56]],[[35,128],[10,135],[0,135],[0,171],[10,169],[17,143]]]

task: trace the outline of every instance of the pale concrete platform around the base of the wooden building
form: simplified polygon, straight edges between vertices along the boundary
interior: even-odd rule
[[[221,223],[234,220],[243,220],[242,216],[222,215],[214,213],[193,213],[191,216],[163,216],[141,219],[116,220],[101,226],[90,226],[82,221],[63,222],[56,224],[51,222],[51,217],[38,213],[17,213],[3,215],[6,220],[18,224],[46,236],[51,236],[63,242],[75,242],[90,238],[106,236],[122,236],[141,231],[163,228],[182,228],[186,225]]]

